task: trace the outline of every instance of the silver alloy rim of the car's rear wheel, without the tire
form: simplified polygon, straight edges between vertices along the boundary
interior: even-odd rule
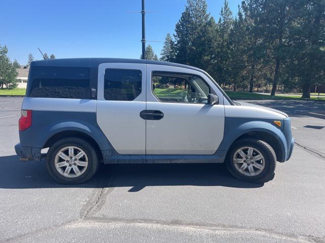
[[[81,176],[88,167],[87,154],[76,146],[60,149],[54,159],[55,168],[64,177],[75,178]]]

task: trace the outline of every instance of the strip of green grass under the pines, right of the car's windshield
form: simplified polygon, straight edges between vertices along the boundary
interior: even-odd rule
[[[240,100],[240,99],[247,99],[247,100],[301,100],[300,96],[297,95],[276,95],[276,96],[269,96],[269,95],[261,95],[256,93],[248,93],[248,92],[232,92],[226,91],[225,92],[231,99]],[[311,97],[311,99],[307,100],[322,100],[325,101],[325,97]]]

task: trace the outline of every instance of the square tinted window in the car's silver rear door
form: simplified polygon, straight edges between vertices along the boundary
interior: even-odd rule
[[[105,100],[132,101],[141,94],[141,86],[141,70],[105,69]]]

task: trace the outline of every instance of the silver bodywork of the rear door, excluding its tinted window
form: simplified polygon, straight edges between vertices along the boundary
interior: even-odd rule
[[[142,91],[134,101],[104,99],[106,68],[142,71]],[[146,109],[146,64],[102,63],[98,71],[97,123],[119,154],[145,154],[146,121],[140,112]]]

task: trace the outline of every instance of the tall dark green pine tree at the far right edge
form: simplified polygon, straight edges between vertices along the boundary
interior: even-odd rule
[[[291,79],[297,78],[302,98],[310,98],[310,86],[324,83],[325,2],[300,0],[295,2],[293,21],[289,27],[288,68]]]

